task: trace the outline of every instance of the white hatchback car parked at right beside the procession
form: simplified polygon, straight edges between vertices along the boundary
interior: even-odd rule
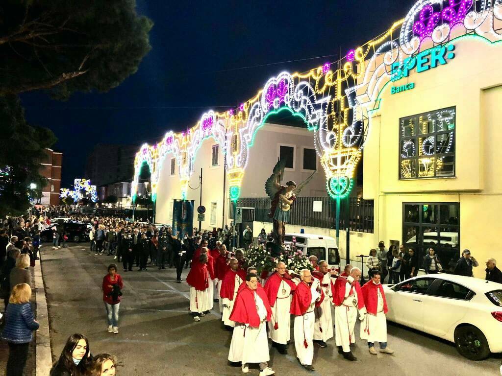
[[[502,284],[426,274],[384,289],[388,320],[454,342],[472,360],[502,352]]]

